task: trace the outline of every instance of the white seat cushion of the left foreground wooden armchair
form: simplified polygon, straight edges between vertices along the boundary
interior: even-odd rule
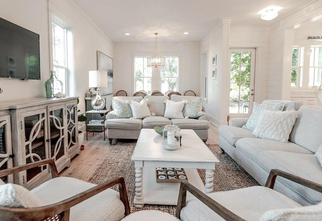
[[[96,186],[72,177],[57,177],[32,189],[44,205],[59,202]],[[109,188],[70,208],[69,220],[120,220],[124,216],[124,204],[117,191]]]

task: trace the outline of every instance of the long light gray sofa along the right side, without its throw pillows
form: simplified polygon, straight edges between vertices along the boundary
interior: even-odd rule
[[[220,126],[219,145],[261,185],[271,169],[322,184],[322,167],[314,156],[322,144],[322,108],[301,105],[287,143],[255,137],[252,130],[241,128],[247,120],[230,119],[228,126]],[[277,179],[275,189],[301,205],[322,201],[321,193],[285,179]]]

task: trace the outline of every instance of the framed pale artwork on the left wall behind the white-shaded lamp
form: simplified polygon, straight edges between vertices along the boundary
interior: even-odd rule
[[[97,51],[97,69],[107,71],[107,87],[101,87],[101,94],[113,93],[113,58]]]

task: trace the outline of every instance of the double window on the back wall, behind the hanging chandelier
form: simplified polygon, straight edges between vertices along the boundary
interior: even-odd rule
[[[179,57],[166,57],[166,65],[162,68],[147,67],[147,57],[135,57],[134,92],[144,90],[150,94],[153,90],[178,91]]]

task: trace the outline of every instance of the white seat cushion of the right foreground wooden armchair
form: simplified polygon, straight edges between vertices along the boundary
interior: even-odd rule
[[[301,205],[285,195],[263,186],[208,193],[212,199],[246,220],[259,220],[268,210],[295,208]],[[224,220],[199,199],[187,200],[180,212],[182,221]]]

